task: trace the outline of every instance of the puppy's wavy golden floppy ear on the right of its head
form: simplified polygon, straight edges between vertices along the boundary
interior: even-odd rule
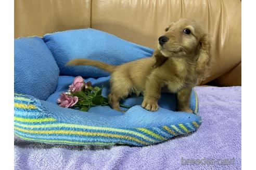
[[[209,34],[204,34],[199,40],[199,45],[197,48],[198,58],[196,64],[196,72],[200,79],[204,79],[209,76],[209,69],[211,64],[210,46],[211,43]]]

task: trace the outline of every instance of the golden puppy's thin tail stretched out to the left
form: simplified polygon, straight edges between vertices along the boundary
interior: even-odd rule
[[[66,65],[91,65],[105,70],[106,72],[113,73],[117,66],[109,65],[103,62],[89,60],[89,59],[74,59],[69,61]]]

